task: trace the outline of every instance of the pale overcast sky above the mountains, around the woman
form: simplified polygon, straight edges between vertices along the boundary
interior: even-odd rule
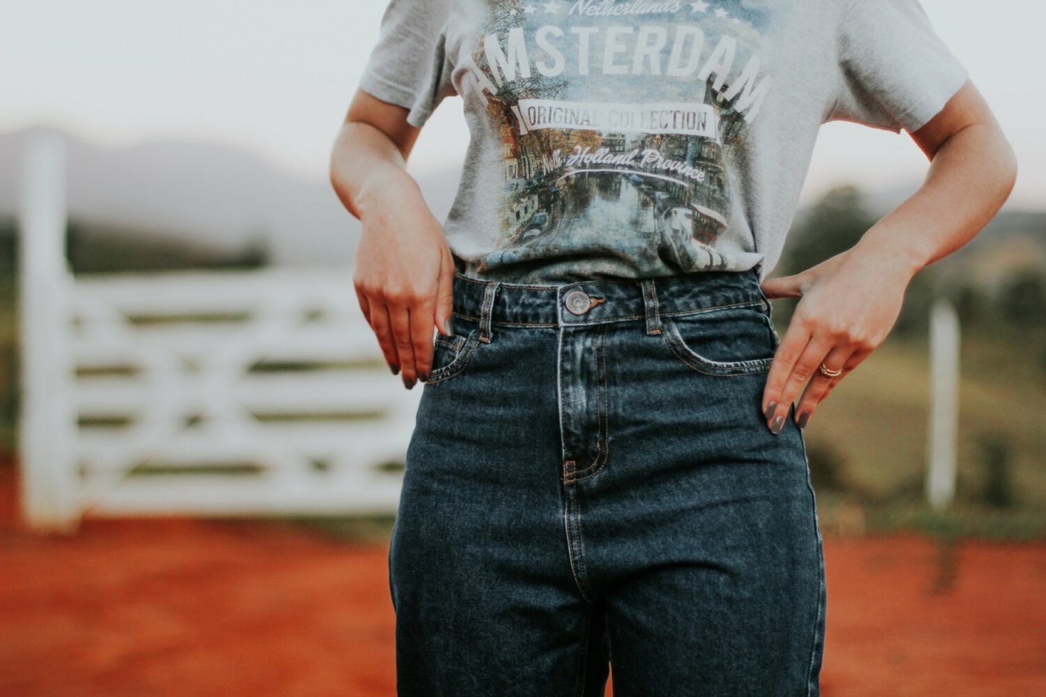
[[[295,176],[325,179],[331,143],[385,4],[19,3],[0,23],[0,133],[44,124],[104,146],[213,142],[255,152]],[[1017,149],[1020,175],[1010,205],[1046,207],[1046,79],[1032,57],[1046,5],[923,4]],[[467,139],[460,100],[448,100],[423,131],[411,169],[457,165]],[[822,127],[804,202],[843,180],[871,189],[917,183],[927,164],[904,133],[831,123]]]

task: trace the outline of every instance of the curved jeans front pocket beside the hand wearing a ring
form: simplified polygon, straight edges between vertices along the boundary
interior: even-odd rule
[[[770,370],[777,344],[761,303],[661,318],[662,335],[684,365],[711,375]]]

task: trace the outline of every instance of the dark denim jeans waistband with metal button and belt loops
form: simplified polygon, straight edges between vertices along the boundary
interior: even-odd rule
[[[561,285],[485,281],[454,275],[454,313],[492,324],[560,327],[645,319],[660,331],[659,318],[729,305],[770,304],[753,270],[701,271],[636,279],[591,279]]]

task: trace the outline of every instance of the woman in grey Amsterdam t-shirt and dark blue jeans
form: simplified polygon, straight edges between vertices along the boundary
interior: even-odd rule
[[[404,163],[452,94],[472,137],[440,226]],[[835,119],[907,131],[929,175],[767,280]],[[618,697],[817,695],[801,429],[1016,169],[917,0],[392,0],[331,178],[363,312],[425,382],[399,693],[601,695],[612,665]]]

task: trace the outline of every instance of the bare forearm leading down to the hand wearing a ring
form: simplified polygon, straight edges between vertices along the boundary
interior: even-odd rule
[[[937,149],[923,186],[854,247],[910,278],[970,241],[1013,190],[1017,159],[994,124],[975,123]]]

